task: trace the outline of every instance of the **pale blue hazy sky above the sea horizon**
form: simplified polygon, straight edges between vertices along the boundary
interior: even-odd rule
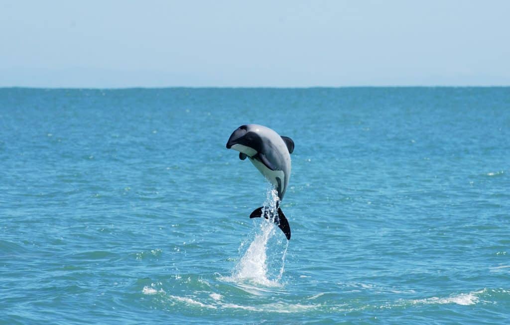
[[[0,87],[509,86],[510,1],[0,0]]]

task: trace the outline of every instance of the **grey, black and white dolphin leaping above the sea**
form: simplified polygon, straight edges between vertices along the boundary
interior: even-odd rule
[[[294,141],[289,137],[279,136],[272,129],[258,124],[246,124],[238,127],[226,143],[227,149],[239,151],[239,159],[246,157],[274,186],[278,194],[276,202],[277,218],[274,222],[290,240],[290,226],[284,212],[279,207],[283,200],[290,178],[290,154],[294,151]],[[255,209],[250,218],[269,219],[269,207]]]

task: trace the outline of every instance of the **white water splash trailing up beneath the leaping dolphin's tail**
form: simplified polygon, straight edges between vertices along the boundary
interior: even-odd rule
[[[263,286],[281,286],[279,281],[285,271],[285,258],[289,247],[288,240],[285,240],[285,247],[282,250],[282,239],[278,234],[278,227],[273,220],[276,216],[276,203],[278,195],[273,188],[269,188],[264,202],[265,209],[269,209],[269,220],[257,219],[253,240],[248,249],[244,252],[237,265],[234,267],[232,276],[226,280],[234,282],[250,282]],[[242,250],[247,242],[241,244]]]

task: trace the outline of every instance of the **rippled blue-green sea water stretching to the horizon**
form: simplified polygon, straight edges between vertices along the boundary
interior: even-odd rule
[[[0,323],[507,324],[509,139],[510,88],[0,89]]]

